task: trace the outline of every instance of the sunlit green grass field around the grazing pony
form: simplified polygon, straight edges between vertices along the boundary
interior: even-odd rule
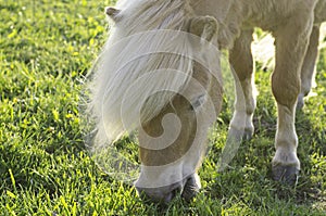
[[[216,173],[231,114],[226,101],[192,202],[145,204],[133,187],[101,171],[85,148],[79,104],[108,36],[110,3],[0,0],[0,215],[326,215],[325,49],[318,97],[297,114],[302,171],[294,189],[271,180],[276,109],[271,72],[259,66],[255,136]]]

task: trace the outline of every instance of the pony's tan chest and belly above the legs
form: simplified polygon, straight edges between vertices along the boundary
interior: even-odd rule
[[[264,30],[276,31],[291,17],[300,16],[302,13],[302,20],[304,13],[311,16],[315,2],[317,0],[192,0],[190,4],[197,15],[212,15],[222,24],[218,28],[218,45],[230,49],[241,30],[261,27]],[[325,9],[325,5],[322,5],[325,2],[322,0],[318,4],[318,22],[321,22],[325,20],[325,12],[321,9],[321,7]],[[300,18],[296,23],[300,24]]]

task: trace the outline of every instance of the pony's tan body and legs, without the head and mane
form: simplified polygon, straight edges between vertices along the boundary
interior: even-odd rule
[[[192,5],[198,14],[213,15],[222,23],[218,28],[218,45],[230,50],[229,62],[239,79],[236,87],[238,100],[229,136],[242,135],[248,139],[253,134],[255,96],[250,45],[253,28],[261,27],[273,34],[276,46],[276,66],[272,77],[273,94],[278,106],[276,155],[272,163],[274,177],[292,181],[293,178],[290,176],[297,176],[300,169],[294,111],[297,102],[298,107],[303,106],[303,97],[311,90],[317,56],[318,30],[321,23],[326,21],[326,1],[233,0],[227,3],[218,1],[193,1]],[[222,4],[224,11],[220,8]],[[241,100],[242,94],[244,99]],[[239,124],[242,122],[244,134]]]

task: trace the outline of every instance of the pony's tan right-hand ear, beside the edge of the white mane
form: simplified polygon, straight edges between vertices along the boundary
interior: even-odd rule
[[[188,31],[211,41],[217,34],[217,21],[213,16],[197,16],[190,20]]]

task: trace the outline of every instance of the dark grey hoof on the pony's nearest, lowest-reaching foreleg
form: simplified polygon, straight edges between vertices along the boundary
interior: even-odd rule
[[[287,185],[297,185],[299,178],[299,169],[294,166],[273,166],[273,179]]]

